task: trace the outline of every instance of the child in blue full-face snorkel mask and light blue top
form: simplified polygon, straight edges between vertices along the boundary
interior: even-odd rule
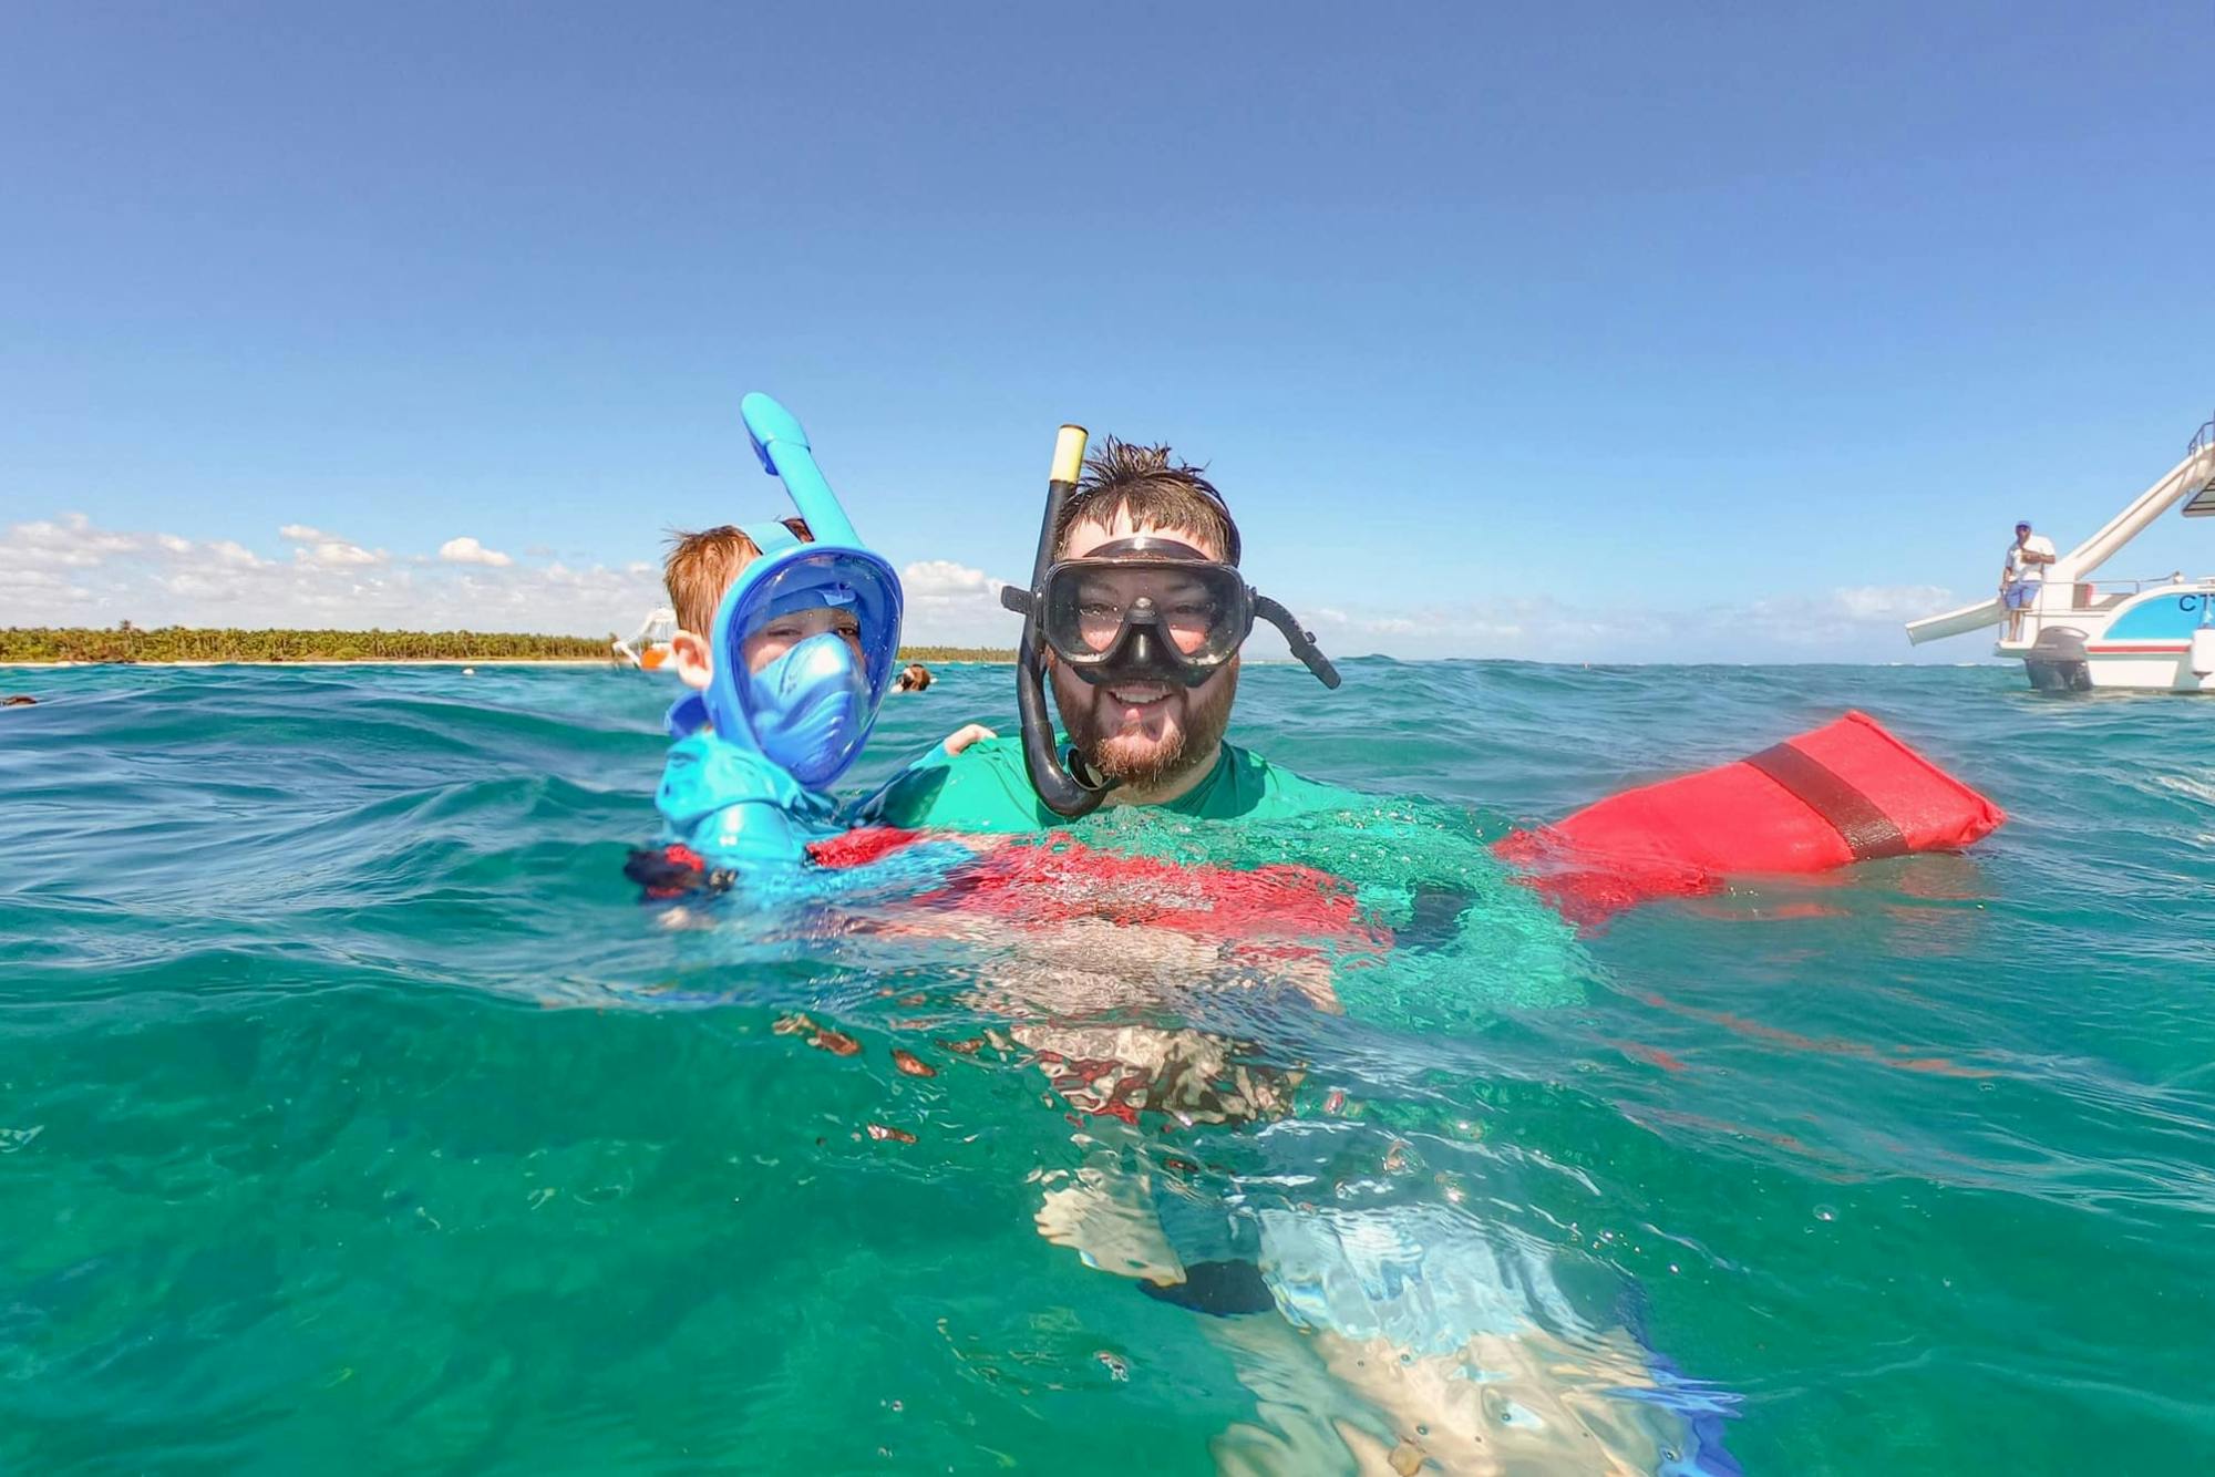
[[[689,886],[640,868],[744,884],[802,866],[811,841],[844,833],[826,788],[862,755],[899,653],[899,576],[862,545],[800,421],[766,394],[740,410],[802,516],[684,534],[669,551],[671,658],[693,691],[669,709],[676,744],[656,791],[664,848],[633,857],[649,895]],[[946,751],[986,733],[970,724]]]

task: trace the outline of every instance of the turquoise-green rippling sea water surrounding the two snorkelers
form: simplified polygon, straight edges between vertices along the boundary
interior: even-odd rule
[[[1105,839],[1358,884],[1398,946],[1327,1014],[1313,961],[1189,934],[893,895],[673,926],[620,877],[671,695],[636,673],[0,689],[40,698],[0,709],[0,1470],[1351,1470],[1449,1450],[1424,1399],[1522,1450],[1668,1368],[1750,1473],[2215,1455],[2215,704],[1251,669],[1234,737],[1376,808]],[[1847,706],[2009,826],[1582,937],[1486,870]],[[1008,669],[946,669],[870,775],[1010,713]],[[1274,1107],[1079,1114],[1041,1052],[1119,1030],[1223,1043],[1201,1074]],[[1150,1227],[1296,1318],[1141,1295],[1110,1262]],[[1378,1236],[1484,1306],[1353,1289]],[[1378,1368],[1471,1322],[1497,1388]]]

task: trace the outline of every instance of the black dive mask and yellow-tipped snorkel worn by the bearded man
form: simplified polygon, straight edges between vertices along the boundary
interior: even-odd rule
[[[1083,558],[1057,560],[1063,507],[1076,492],[1085,461],[1085,430],[1063,425],[1054,441],[1054,467],[1045,485],[1045,523],[1030,589],[1001,587],[999,602],[1023,616],[1017,651],[1017,704],[1023,715],[1023,766],[1030,784],[1057,815],[1085,815],[1108,793],[1108,782],[1076,751],[1054,748],[1045,715],[1045,664],[1065,664],[1094,686],[1161,682],[1201,686],[1218,673],[1254,620],[1285,633],[1291,653],[1325,686],[1338,686],[1338,669],[1316,647],[1316,633],[1291,611],[1256,591],[1238,571],[1238,523],[1216,498],[1229,529],[1227,558],[1212,560],[1176,536],[1145,534],[1116,538]]]

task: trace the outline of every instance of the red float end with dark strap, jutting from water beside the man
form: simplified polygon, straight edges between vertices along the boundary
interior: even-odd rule
[[[1493,850],[1566,915],[1590,921],[1728,877],[1827,872],[1960,850],[2007,815],[1867,713],[1699,775],[1610,795]]]

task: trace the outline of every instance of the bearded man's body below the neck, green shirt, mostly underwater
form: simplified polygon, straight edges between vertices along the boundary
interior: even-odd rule
[[[1209,1337],[1265,1402],[1218,1439],[1225,1470],[1737,1470],[1730,1397],[1575,1306],[1542,1244],[1402,1182],[1426,1109],[1327,1045],[1340,1012],[1398,1039],[1584,999],[1575,930],[1466,817],[1232,744],[1172,802],[1041,817],[1021,764],[977,744],[875,810],[981,850],[924,901],[992,952],[966,1003],[1092,1145],[1041,1178],[1039,1233],[1220,1315]],[[882,859],[868,835],[833,848]],[[1347,1087],[1400,1127],[1351,1118]],[[1147,1169],[1154,1143],[1198,1154],[1192,1134],[1227,1178]],[[1349,1156],[1391,1187],[1329,1207],[1287,1189]]]

